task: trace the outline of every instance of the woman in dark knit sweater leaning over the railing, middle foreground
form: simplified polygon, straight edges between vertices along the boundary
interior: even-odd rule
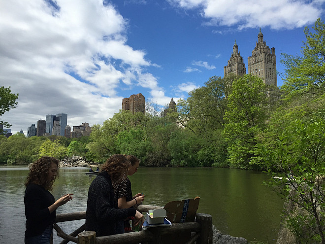
[[[89,187],[86,231],[95,231],[97,237],[115,235],[118,221],[129,216],[135,218],[135,225],[142,224],[143,215],[139,211],[119,209],[114,199],[112,181],[119,180],[129,167],[129,160],[122,154],[114,154],[107,159]]]

